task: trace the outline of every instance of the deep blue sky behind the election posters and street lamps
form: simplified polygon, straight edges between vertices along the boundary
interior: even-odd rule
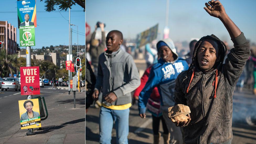
[[[35,28],[35,46],[33,46],[33,49],[41,49],[43,46],[50,47],[50,45],[68,45],[68,9],[67,12],[58,12],[55,7],[55,11],[46,12],[44,1],[36,1],[37,27]],[[1,2],[0,21],[8,21],[8,23],[17,28],[17,43],[19,44],[17,0],[1,0]],[[78,4],[73,5],[70,10],[70,22],[78,25],[78,31],[82,34],[78,35],[78,44],[85,45],[85,12]],[[74,12],[72,12],[73,10]],[[77,31],[77,26],[70,26],[70,28]],[[77,44],[76,33],[72,35],[72,44],[74,43]]]

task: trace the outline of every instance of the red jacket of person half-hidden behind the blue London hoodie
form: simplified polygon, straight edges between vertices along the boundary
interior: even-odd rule
[[[145,87],[147,81],[148,81],[148,76],[151,70],[151,67],[153,65],[149,66],[146,71],[144,72],[143,76],[140,79],[140,86],[134,91],[134,95],[133,97],[138,97],[140,95],[140,92],[142,91],[142,89]],[[157,87],[155,87],[150,95],[150,98],[154,101],[159,101],[160,102],[160,94],[158,92]]]

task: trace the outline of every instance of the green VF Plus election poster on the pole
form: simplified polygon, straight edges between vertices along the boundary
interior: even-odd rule
[[[35,45],[35,26],[20,26],[20,46]]]

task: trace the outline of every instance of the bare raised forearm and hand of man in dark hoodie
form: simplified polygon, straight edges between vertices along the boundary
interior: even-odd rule
[[[228,17],[220,1],[212,0],[208,3],[205,3],[205,6],[206,7],[204,7],[204,9],[206,10],[207,13],[221,20],[221,22],[228,30],[231,39],[236,38],[242,33],[241,30],[236,26],[236,24],[234,24],[234,22],[230,19],[230,17]]]

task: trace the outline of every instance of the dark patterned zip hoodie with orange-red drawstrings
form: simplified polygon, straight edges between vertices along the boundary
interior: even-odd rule
[[[203,73],[199,70],[197,50],[205,39],[218,43],[221,58],[210,71]],[[232,96],[250,51],[243,33],[231,40],[234,48],[223,64],[226,45],[215,35],[202,37],[195,45],[189,70],[176,79],[175,105],[184,104],[191,110],[191,121],[184,127],[185,143],[224,143],[233,138]]]

